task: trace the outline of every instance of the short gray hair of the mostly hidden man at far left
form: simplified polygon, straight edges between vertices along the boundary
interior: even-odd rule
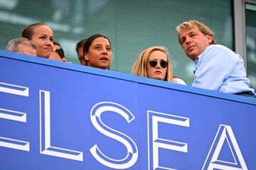
[[[13,40],[10,40],[8,42],[8,44],[6,45],[6,50],[10,51],[10,52],[18,52],[18,45],[19,44],[28,45],[30,47],[33,47],[33,49],[35,49],[35,50],[37,49],[34,42],[32,42],[31,40],[28,40],[26,38],[19,37],[19,38],[15,38]]]

